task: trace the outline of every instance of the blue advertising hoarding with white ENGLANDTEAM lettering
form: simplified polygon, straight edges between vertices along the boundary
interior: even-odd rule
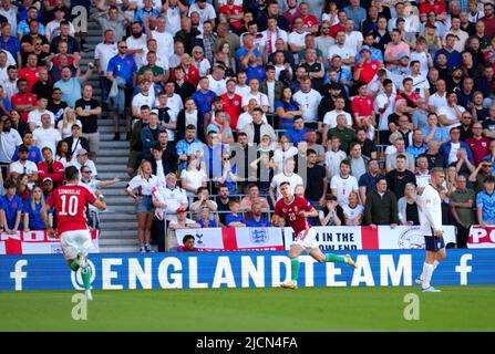
[[[342,252],[336,252],[343,254]],[[300,257],[301,287],[413,285],[424,262],[423,250],[353,251],[360,266],[317,263]],[[290,261],[283,251],[100,253],[90,256],[93,289],[270,288],[286,281]],[[495,284],[495,250],[448,249],[433,274],[435,285]],[[62,256],[0,257],[0,290],[82,289]]]

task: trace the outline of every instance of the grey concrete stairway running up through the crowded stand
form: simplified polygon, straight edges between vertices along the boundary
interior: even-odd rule
[[[93,9],[94,11],[94,9]],[[94,48],[102,41],[100,25],[90,20],[86,45],[90,52],[82,52],[82,73],[87,69],[87,62],[94,62]],[[101,86],[96,70],[89,83],[93,86],[95,100],[101,102]],[[111,116],[103,113],[99,121],[100,154],[96,159],[97,176],[100,179],[112,179],[118,177],[120,183],[102,189],[105,196],[107,210],[101,214],[100,226],[100,252],[136,252],[137,221],[133,199],[125,192],[128,183],[126,173],[128,142],[113,142],[113,121]],[[121,138],[125,138],[125,119],[121,119]]]

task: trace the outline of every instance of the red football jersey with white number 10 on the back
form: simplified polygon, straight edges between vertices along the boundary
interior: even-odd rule
[[[47,204],[55,208],[56,230],[87,230],[86,202],[94,204],[96,197],[83,186],[61,186],[56,188]]]

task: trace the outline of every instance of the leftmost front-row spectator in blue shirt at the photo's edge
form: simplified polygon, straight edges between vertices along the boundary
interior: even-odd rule
[[[0,197],[2,231],[8,235],[16,235],[21,222],[22,199],[16,195],[17,187],[13,180],[6,180],[3,187],[6,188],[6,195]]]

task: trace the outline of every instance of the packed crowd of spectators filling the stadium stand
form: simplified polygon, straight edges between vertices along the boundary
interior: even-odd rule
[[[494,225],[493,1],[94,6],[0,2],[4,232],[44,229],[66,166],[101,198],[118,181],[97,178],[104,117],[130,142],[142,252],[164,251],[165,230],[269,226],[282,181],[319,210],[313,225],[419,225],[433,167],[457,247]],[[102,41],[82,67],[89,20]]]

